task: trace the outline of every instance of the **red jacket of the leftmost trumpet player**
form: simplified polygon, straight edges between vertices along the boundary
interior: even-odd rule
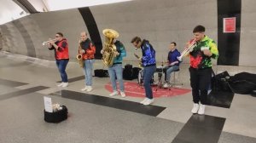
[[[68,44],[67,39],[63,38],[61,41],[55,42],[55,44],[58,46],[58,49],[56,50],[53,46],[49,48],[49,50],[55,49],[55,59],[56,60],[68,60]]]

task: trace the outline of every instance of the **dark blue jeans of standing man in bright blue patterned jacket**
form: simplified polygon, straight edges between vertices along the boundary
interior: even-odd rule
[[[154,75],[155,70],[156,66],[145,66],[143,69],[143,86],[145,88],[146,97],[148,99],[153,99],[150,81]]]

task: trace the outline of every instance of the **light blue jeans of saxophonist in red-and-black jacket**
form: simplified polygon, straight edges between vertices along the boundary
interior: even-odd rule
[[[85,76],[86,86],[92,85],[92,70],[93,70],[94,61],[95,61],[94,59],[84,60],[84,76]]]

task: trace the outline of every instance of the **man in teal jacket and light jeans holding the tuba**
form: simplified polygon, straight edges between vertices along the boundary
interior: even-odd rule
[[[113,39],[113,44],[116,47],[116,52],[114,53],[115,57],[113,59],[113,65],[108,67],[108,75],[112,84],[113,93],[109,94],[109,96],[115,96],[119,94],[115,80],[115,77],[117,77],[117,81],[119,82],[120,94],[122,97],[125,97],[122,66],[123,57],[126,56],[125,46],[123,43],[119,42],[119,40],[116,40],[116,38]],[[103,49],[101,50],[101,54],[104,54]]]

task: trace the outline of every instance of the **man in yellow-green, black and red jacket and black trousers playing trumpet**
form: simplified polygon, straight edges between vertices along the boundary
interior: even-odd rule
[[[205,35],[204,26],[195,26],[195,48],[189,52],[190,85],[194,101],[192,113],[204,114],[207,103],[207,90],[212,78],[212,60],[218,58],[218,48],[210,37]]]

